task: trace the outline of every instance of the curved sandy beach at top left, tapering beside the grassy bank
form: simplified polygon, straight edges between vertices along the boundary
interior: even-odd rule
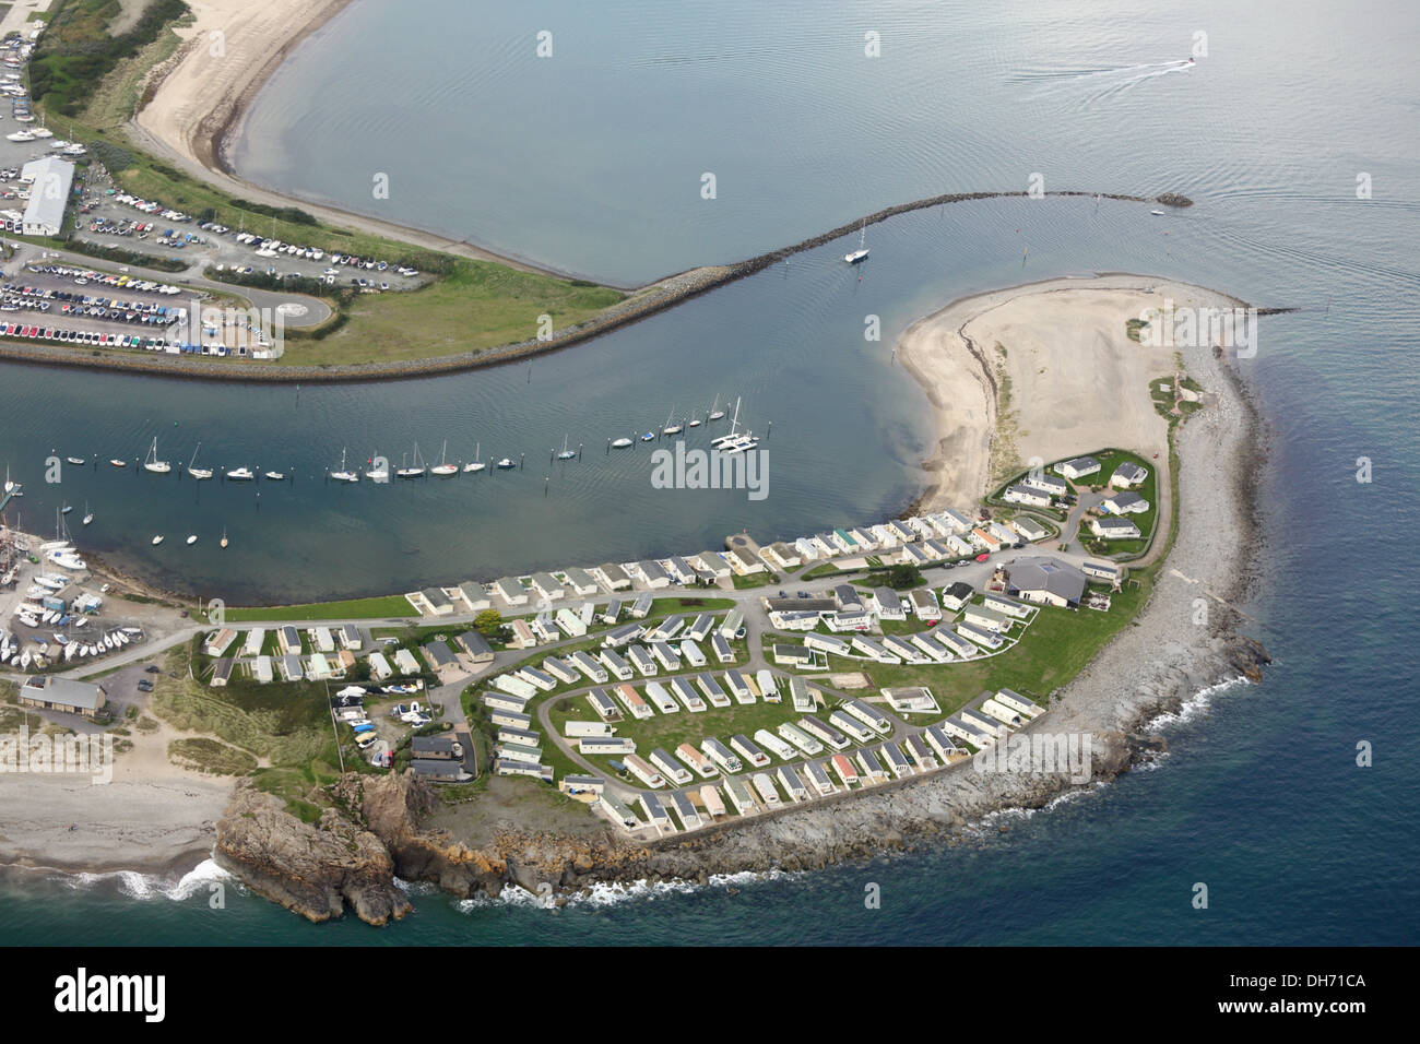
[[[523,271],[568,274],[422,229],[268,192],[243,180],[226,166],[223,146],[240,132],[246,109],[261,87],[302,40],[325,26],[348,3],[349,0],[189,0],[193,20],[175,28],[183,44],[172,58],[149,74],[145,94],[148,101],[128,122],[128,132],[135,143],[172,162],[185,173],[243,199],[270,206],[300,206],[338,227],[354,227],[430,250],[498,261]]]

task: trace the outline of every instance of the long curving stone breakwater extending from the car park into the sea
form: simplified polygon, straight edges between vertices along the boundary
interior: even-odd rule
[[[746,278],[768,268],[794,254],[812,250],[858,232],[865,224],[878,224],[889,217],[924,210],[947,203],[966,203],[981,199],[1010,199],[1024,197],[1025,192],[954,192],[929,199],[919,199],[913,203],[897,203],[883,207],[866,217],[858,217],[836,229],[831,229],[819,236],[795,243],[794,246],[771,250],[770,253],[751,257],[744,261],[724,266],[703,266],[689,271],[657,280],[640,290],[633,291],[625,300],[613,304],[601,315],[579,322],[565,330],[558,330],[547,341],[528,339],[514,344],[484,348],[479,351],[459,352],[456,355],[440,355],[429,359],[403,359],[392,362],[358,362],[349,365],[328,366],[283,366],[261,362],[216,362],[193,358],[173,358],[170,355],[149,354],[80,354],[55,345],[34,345],[24,342],[0,341],[0,358],[16,359],[18,362],[33,362],[40,365],[87,366],[92,369],[118,369],[129,374],[155,374],[160,376],[176,376],[197,381],[244,381],[244,382],[355,382],[355,381],[400,381],[412,378],[432,376],[437,374],[453,374],[480,366],[496,366],[515,362],[532,355],[569,348],[582,341],[589,341],[602,334],[608,334],[619,327],[639,322],[657,312],[673,308],[683,301],[699,297],[710,290],[723,287],[736,280]],[[1081,196],[1122,200],[1127,203],[1162,203],[1166,206],[1184,207],[1193,202],[1177,193],[1162,196],[1126,196],[1118,193],[1095,192],[1047,192],[1047,196]]]

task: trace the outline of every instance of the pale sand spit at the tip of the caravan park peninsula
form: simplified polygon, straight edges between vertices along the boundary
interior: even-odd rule
[[[1119,446],[1159,453],[1166,472],[1169,426],[1149,381],[1173,374],[1174,349],[1125,334],[1126,320],[1164,298],[1240,304],[1169,280],[1100,276],[977,294],[912,324],[897,357],[927,393],[937,437],[923,510],[974,507],[1032,457],[1049,463]]]

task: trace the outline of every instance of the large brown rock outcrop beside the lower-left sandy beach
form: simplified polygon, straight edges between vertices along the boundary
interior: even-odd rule
[[[310,920],[339,918],[348,906],[361,920],[383,925],[410,910],[375,834],[334,808],[302,822],[250,784],[236,790],[217,822],[213,858],[251,891]]]

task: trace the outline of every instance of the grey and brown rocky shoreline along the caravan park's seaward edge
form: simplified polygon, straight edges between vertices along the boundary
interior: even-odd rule
[[[1207,348],[1184,357],[1216,399],[1177,436],[1180,530],[1169,561],[1135,626],[1056,690],[1051,713],[1024,730],[1089,733],[1091,784],[1166,749],[1163,737],[1140,732],[1150,720],[1210,686],[1260,682],[1269,662],[1262,645],[1241,634],[1245,618],[1235,608],[1255,577],[1258,548],[1242,535],[1260,531],[1252,476],[1265,455],[1264,425],[1231,361]],[[508,824],[491,844],[470,848],[420,828],[437,800],[427,784],[351,774],[337,787],[338,810],[327,811],[320,827],[240,787],[217,824],[214,858],[312,920],[349,908],[378,925],[409,910],[395,878],[464,898],[496,896],[508,883],[567,896],[606,882],[704,883],[713,875],[809,871],[956,844],[993,812],[1041,808],[1076,785],[1064,776],[981,773],[964,763],[836,804],[655,844],[609,828],[568,837]]]

